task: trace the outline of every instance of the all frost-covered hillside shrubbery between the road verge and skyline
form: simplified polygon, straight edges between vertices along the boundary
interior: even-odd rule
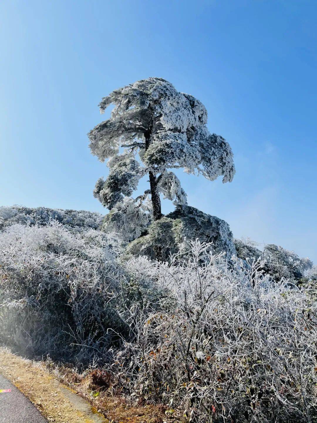
[[[317,418],[311,262],[292,253],[283,266],[301,275],[279,278],[255,247],[246,254],[250,244],[235,242],[241,258],[226,257],[199,240],[161,262],[128,255],[121,236],[98,229],[98,214],[23,210],[1,209],[2,345],[98,366],[113,394],[164,404],[167,418]]]

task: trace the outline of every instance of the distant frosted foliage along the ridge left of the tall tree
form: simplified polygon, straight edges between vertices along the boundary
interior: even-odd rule
[[[46,225],[49,220],[56,220],[71,230],[97,229],[103,216],[100,213],[85,210],[49,209],[48,207],[30,208],[24,206],[0,207],[0,229],[14,223]]]

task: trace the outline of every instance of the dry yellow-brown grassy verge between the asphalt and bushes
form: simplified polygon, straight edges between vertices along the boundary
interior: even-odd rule
[[[172,423],[176,420],[161,407],[132,407],[123,398],[113,398],[108,391],[92,385],[91,376],[80,378],[69,369],[47,366],[0,348],[0,373],[25,394],[47,418],[55,423]],[[58,382],[59,381],[59,382]],[[60,383],[62,382],[62,383]],[[64,384],[64,385],[63,385]],[[71,388],[66,392],[66,386]],[[77,393],[91,409],[82,411],[69,395]],[[76,400],[76,396],[73,395]],[[89,406],[88,406],[89,408]],[[103,413],[106,418],[100,414]]]

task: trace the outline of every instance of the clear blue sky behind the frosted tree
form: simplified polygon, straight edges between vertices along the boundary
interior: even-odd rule
[[[97,104],[163,77],[235,155],[231,184],[181,173],[190,205],[317,262],[315,0],[4,0],[0,16],[1,205],[105,213]]]

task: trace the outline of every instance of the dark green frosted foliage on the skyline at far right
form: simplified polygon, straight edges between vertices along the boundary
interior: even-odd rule
[[[275,244],[266,244],[263,251],[260,251],[250,240],[235,239],[234,243],[239,258],[248,263],[262,258],[265,261],[265,271],[276,280],[301,280],[306,270],[311,269],[313,265],[309,258],[300,258],[293,251]]]

